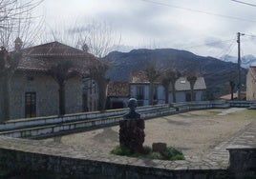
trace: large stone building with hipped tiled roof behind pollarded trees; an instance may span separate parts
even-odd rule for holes
[[[52,42],[22,50],[22,58],[10,81],[11,119],[59,114],[59,86],[49,73],[53,61],[60,64],[72,61],[77,65],[73,69],[79,69],[65,80],[65,113],[94,109],[85,100],[88,96],[83,78],[88,78],[86,66],[96,58],[86,50]],[[96,98],[96,94],[93,96]]]

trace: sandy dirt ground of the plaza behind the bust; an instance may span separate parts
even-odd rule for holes
[[[185,157],[203,156],[222,141],[256,120],[256,110],[207,109],[145,121],[144,146],[164,142],[181,149]],[[64,144],[96,147],[109,152],[118,145],[118,126],[45,139]]]

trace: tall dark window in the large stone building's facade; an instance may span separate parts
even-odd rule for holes
[[[36,117],[36,93],[25,93],[25,117]]]

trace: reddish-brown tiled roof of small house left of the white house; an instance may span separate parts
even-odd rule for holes
[[[109,97],[127,97],[129,96],[129,83],[113,82],[108,84]]]

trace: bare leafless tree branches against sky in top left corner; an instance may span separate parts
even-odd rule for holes
[[[2,0],[0,1],[0,44],[7,50],[13,50],[16,37],[23,40],[23,46],[29,47],[38,40],[42,19],[32,17],[34,10],[42,0]]]

